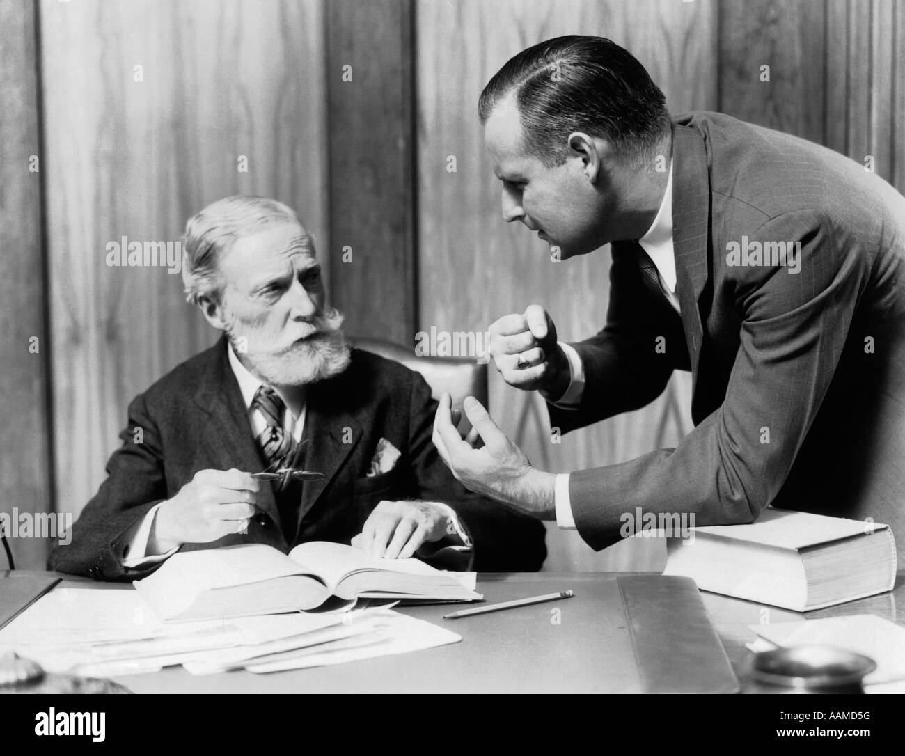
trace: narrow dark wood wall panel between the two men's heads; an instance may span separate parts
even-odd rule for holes
[[[327,8],[333,300],[349,333],[412,343],[415,287],[411,0]]]

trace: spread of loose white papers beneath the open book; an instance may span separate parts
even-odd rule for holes
[[[0,653],[15,651],[47,672],[110,676],[184,665],[210,674],[339,664],[461,639],[386,607],[165,623],[133,590],[57,589],[0,630]]]

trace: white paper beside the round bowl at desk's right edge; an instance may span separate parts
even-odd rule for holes
[[[758,636],[776,646],[819,644],[870,656],[877,668],[864,684],[905,680],[905,627],[870,614],[752,625]]]

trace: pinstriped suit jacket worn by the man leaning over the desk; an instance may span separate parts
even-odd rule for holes
[[[672,127],[681,318],[612,244],[606,325],[575,344],[586,388],[563,432],[643,407],[691,369],[674,449],[573,473],[595,549],[620,514],[751,522],[768,504],[888,522],[905,544],[905,198],[832,150],[719,113]],[[800,241],[800,273],[728,263],[731,242]],[[655,339],[665,337],[665,354]],[[768,434],[768,435],[767,435]]]

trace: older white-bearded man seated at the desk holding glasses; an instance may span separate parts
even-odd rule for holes
[[[138,579],[177,550],[302,541],[457,569],[539,569],[543,526],[452,479],[419,374],[350,349],[309,234],[233,196],[188,221],[183,279],[224,337],[129,406],[108,478],[51,569]],[[304,467],[322,480],[252,473]]]

